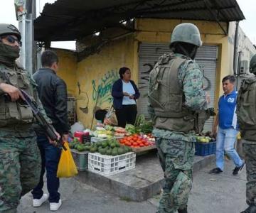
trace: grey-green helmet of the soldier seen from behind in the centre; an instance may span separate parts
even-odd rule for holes
[[[180,23],[171,33],[171,43],[184,42],[200,47],[202,45],[201,35],[193,23]]]

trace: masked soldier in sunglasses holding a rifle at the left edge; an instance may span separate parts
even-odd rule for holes
[[[32,129],[33,113],[19,89],[36,94],[31,76],[16,64],[21,34],[0,23],[0,212],[16,212],[21,196],[38,183],[41,157]],[[38,103],[42,114],[46,113]]]

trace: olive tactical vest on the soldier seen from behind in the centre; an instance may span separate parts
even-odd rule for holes
[[[155,127],[187,133],[195,125],[193,111],[184,107],[185,97],[178,84],[178,68],[188,58],[167,55],[167,60],[159,60],[150,72],[149,104],[156,115]]]

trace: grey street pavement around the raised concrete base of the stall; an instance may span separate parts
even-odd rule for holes
[[[245,168],[238,176],[232,175],[233,163],[225,161],[225,170],[220,175],[210,175],[208,170],[215,165],[194,174],[193,190],[188,201],[189,213],[240,213],[247,207],[245,203]],[[104,184],[102,182],[102,184]],[[46,192],[46,190],[45,190]],[[144,202],[131,202],[89,185],[72,179],[60,182],[60,193],[63,205],[60,213],[154,213],[159,202],[159,195]],[[39,208],[32,207],[32,197],[28,193],[21,199],[18,213],[50,212],[48,202]]]

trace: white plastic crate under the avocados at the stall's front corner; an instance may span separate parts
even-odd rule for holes
[[[135,168],[136,154],[133,152],[110,156],[89,153],[88,170],[100,175],[114,175]]]

